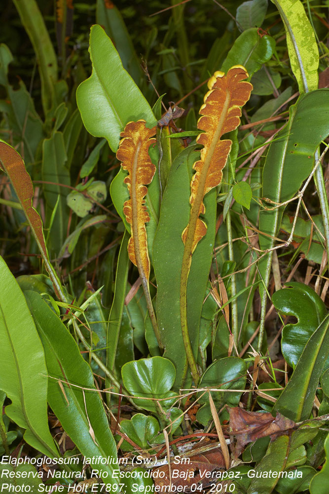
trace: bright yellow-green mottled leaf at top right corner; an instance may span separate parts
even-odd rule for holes
[[[299,0],[272,0],[280,12],[286,35],[292,72],[299,92],[318,87],[319,50],[312,25]]]

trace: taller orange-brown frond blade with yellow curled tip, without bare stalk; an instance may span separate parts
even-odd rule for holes
[[[198,120],[198,128],[205,132],[199,134],[196,139],[198,144],[203,145],[203,149],[200,160],[193,165],[195,174],[191,180],[191,215],[182,235],[184,244],[188,235],[191,253],[207,231],[206,224],[199,218],[199,215],[205,212],[203,198],[221,182],[222,169],[231,150],[232,141],[220,138],[240,124],[240,107],[249,100],[253,89],[250,82],[243,81],[247,77],[246,69],[241,65],[235,65],[229,69],[226,76],[218,71],[208,81],[209,91],[200,108],[199,113],[202,117]]]

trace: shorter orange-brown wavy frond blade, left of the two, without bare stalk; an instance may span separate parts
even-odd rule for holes
[[[148,280],[150,267],[145,223],[149,221],[149,215],[144,197],[147,193],[146,185],[151,183],[156,169],[148,154],[148,148],[156,139],[153,138],[155,127],[148,129],[145,124],[145,120],[139,120],[125,126],[120,134],[123,139],[116,157],[129,173],[124,182],[128,186],[130,199],[123,205],[123,212],[131,225],[129,258],[138,267],[141,277]]]

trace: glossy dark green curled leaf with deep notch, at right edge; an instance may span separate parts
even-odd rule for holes
[[[307,341],[327,315],[319,295],[302,283],[291,282],[272,296],[277,311],[295,316],[297,323],[287,324],[282,330],[282,355],[290,366],[295,366]]]

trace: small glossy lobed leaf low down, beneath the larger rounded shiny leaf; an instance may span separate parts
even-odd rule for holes
[[[136,413],[131,420],[122,420],[120,428],[121,432],[127,434],[129,439],[143,450],[149,448],[149,443],[152,442],[152,439],[160,430],[159,422],[156,418],[143,415],[143,413]],[[134,447],[127,441],[123,441],[120,448],[122,451],[134,450]]]

